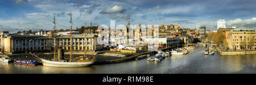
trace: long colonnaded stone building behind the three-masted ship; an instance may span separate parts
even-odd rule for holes
[[[104,45],[98,44],[96,34],[86,34],[84,41],[84,34],[73,34],[73,50],[84,50],[86,45],[87,52],[95,52],[101,50]],[[56,46],[64,50],[70,50],[69,35],[60,35],[56,37]],[[84,43],[86,42],[86,43]],[[1,34],[1,51],[5,53],[22,53],[25,51],[36,50],[53,50],[53,37],[43,35],[17,35],[17,34]]]

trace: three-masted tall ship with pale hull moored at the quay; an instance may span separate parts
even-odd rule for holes
[[[72,42],[72,14],[70,15],[71,17],[71,33],[70,33],[70,40]],[[84,56],[80,56],[80,57],[76,57],[76,59],[72,59],[72,43],[70,45],[70,59],[69,60],[61,60],[61,59],[55,59],[55,53],[56,53],[56,30],[55,30],[55,15],[54,15],[54,20],[53,20],[53,38],[54,38],[54,54],[53,54],[53,60],[51,59],[42,59],[40,58],[40,60],[42,61],[43,66],[52,66],[52,67],[80,67],[80,66],[89,66],[94,64],[94,62],[96,61],[96,58],[89,58],[86,57],[86,52],[85,52],[85,48],[84,48]],[[85,22],[85,32],[84,32],[84,41],[86,40],[86,22]],[[91,42],[90,42],[91,43]],[[89,43],[88,43],[89,44]],[[86,47],[85,44],[84,47]]]

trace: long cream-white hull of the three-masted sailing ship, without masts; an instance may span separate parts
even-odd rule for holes
[[[95,61],[88,62],[61,62],[61,61],[48,61],[42,59],[43,66],[52,66],[52,67],[81,67],[89,66],[94,64]]]

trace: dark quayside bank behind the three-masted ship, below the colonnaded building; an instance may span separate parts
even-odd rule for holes
[[[95,64],[109,64],[114,62],[124,62],[129,60],[135,60],[135,57],[145,55],[148,53],[154,53],[151,51],[141,52],[141,53],[115,53],[115,52],[98,52],[92,53],[87,56],[96,56],[96,63]],[[38,53],[36,54],[40,58],[43,59],[53,59],[53,53]],[[40,60],[35,59],[30,53],[18,53],[18,54],[5,54],[0,53],[1,57],[8,57],[12,60],[36,60],[37,62],[41,63]],[[73,54],[72,58],[75,59],[76,57],[84,56],[82,53]],[[69,59],[69,55],[67,53],[64,54],[64,59]]]

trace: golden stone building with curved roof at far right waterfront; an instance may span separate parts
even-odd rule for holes
[[[256,46],[255,29],[241,26],[240,28],[232,29],[228,34],[228,47],[231,50],[250,49],[250,46]],[[245,46],[243,46],[245,45]]]

